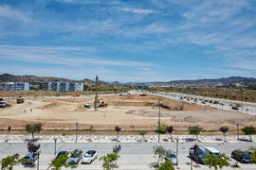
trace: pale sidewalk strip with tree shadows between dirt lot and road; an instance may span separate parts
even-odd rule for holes
[[[57,138],[57,143],[76,143],[76,135],[71,136],[36,136],[35,140],[37,143],[54,143],[54,138]],[[173,135],[174,142],[171,141],[170,135],[161,135],[160,143],[176,143],[178,138],[178,143],[198,143],[194,135]],[[208,143],[208,144],[239,144],[239,143],[251,143],[249,141],[249,136],[241,135],[239,136],[239,141],[237,140],[236,135],[227,136],[226,141],[224,142],[223,136],[198,136],[199,143]],[[27,143],[31,140],[30,135],[0,135],[0,143]],[[90,141],[91,140],[91,141]],[[158,139],[157,135],[146,135],[146,142],[142,142],[142,137],[139,135],[127,135],[119,136],[119,143],[148,143],[148,144],[157,144]],[[252,143],[256,142],[256,136],[252,136]],[[89,135],[78,135],[77,143],[117,143],[117,136],[89,136]]]

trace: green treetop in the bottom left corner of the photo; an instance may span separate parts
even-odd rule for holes
[[[1,161],[1,170],[12,170],[14,165],[20,164],[22,161],[19,159],[19,154],[14,154],[3,158]]]

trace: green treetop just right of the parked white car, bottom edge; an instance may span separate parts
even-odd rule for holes
[[[119,154],[117,152],[109,153],[106,156],[102,156],[100,161],[103,161],[102,168],[104,170],[112,170],[115,168],[119,168],[117,163],[119,159]]]

